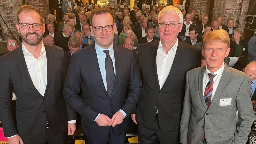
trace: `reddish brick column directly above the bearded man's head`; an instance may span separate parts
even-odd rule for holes
[[[50,14],[49,2],[48,0],[28,0],[29,5],[33,5],[42,12],[43,16]]]

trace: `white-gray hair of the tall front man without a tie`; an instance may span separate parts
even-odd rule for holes
[[[182,12],[180,11],[180,9],[176,8],[175,6],[172,6],[172,5],[168,5],[168,6],[165,6],[158,14],[158,22],[159,22],[159,19],[160,17],[163,15],[163,14],[170,14],[170,13],[175,13],[178,15],[179,17],[179,23],[183,23],[183,15],[182,15]]]

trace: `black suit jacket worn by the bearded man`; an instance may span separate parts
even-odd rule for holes
[[[76,115],[66,110],[63,99],[63,51],[44,45],[47,56],[47,86],[42,96],[35,88],[27,69],[22,47],[0,57],[0,117],[5,137],[42,138],[46,120],[54,134],[67,128]],[[12,91],[17,96],[17,130],[11,113]],[[67,107],[69,107],[67,105]],[[75,112],[75,111],[73,111]]]

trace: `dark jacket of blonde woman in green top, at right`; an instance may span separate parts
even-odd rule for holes
[[[247,42],[245,40],[240,40],[241,42],[241,47],[242,47],[242,55],[239,55],[239,56],[244,56],[244,57],[247,57],[248,55],[248,48],[247,48]],[[236,48],[235,48],[235,43],[236,42],[233,42],[232,40],[230,40],[230,52],[229,52],[229,56],[237,56],[235,55],[235,51],[236,51]]]

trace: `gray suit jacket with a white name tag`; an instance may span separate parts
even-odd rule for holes
[[[211,144],[246,143],[254,121],[249,76],[225,64],[219,86],[207,109],[202,90],[205,69],[199,67],[187,72],[180,142],[199,143],[205,134],[207,143]],[[230,98],[231,105],[220,106],[220,99]]]

